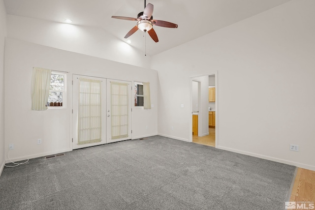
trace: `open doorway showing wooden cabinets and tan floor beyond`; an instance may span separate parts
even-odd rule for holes
[[[218,145],[217,74],[191,78],[191,113],[193,143]],[[196,129],[197,128],[197,129]],[[196,132],[197,130],[197,132]]]

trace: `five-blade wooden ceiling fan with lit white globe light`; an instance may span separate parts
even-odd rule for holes
[[[131,36],[134,32],[136,32],[138,29],[142,30],[144,32],[148,31],[151,38],[158,42],[158,35],[156,31],[153,29],[153,25],[160,26],[160,27],[166,27],[166,28],[177,28],[178,25],[174,23],[170,23],[167,21],[160,21],[160,20],[153,20],[153,4],[148,3],[146,6],[146,0],[144,0],[144,11],[140,12],[137,15],[137,18],[129,18],[129,17],[122,17],[122,16],[112,16],[112,18],[122,19],[122,20],[129,20],[129,21],[137,21],[137,25],[133,27],[125,36],[125,38],[128,38]]]

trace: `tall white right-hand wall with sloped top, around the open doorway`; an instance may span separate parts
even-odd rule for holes
[[[314,20],[292,0],[154,56],[158,133],[189,139],[189,77],[218,71],[218,148],[315,170]]]

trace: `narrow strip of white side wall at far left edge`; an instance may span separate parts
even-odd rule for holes
[[[0,175],[4,167],[4,39],[6,37],[6,11],[0,0]]]

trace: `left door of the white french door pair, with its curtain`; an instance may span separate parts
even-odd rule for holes
[[[72,149],[106,143],[106,79],[72,77]]]

